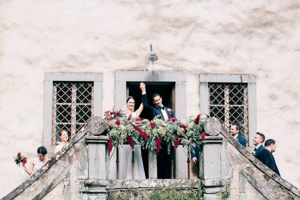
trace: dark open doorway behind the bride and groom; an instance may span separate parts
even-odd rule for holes
[[[126,82],[126,96],[133,96],[135,99],[135,106],[134,110],[136,110],[140,103],[141,103],[141,91],[139,88],[139,83],[140,82]],[[153,93],[159,93],[159,95],[162,98],[162,104],[167,107],[171,107],[173,109],[173,112],[175,114],[175,82],[144,82],[146,85],[146,94],[147,94],[147,99],[148,103],[151,106],[154,106],[152,103],[152,94]],[[146,118],[151,120],[152,113],[151,111],[147,109],[143,109],[140,116],[141,118]],[[148,150],[146,149],[141,149],[141,156],[142,156],[142,161],[143,161],[143,166],[145,170],[145,175],[146,178],[149,177],[148,173]]]

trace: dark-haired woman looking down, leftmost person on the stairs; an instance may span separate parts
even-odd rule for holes
[[[37,157],[30,160],[29,168],[23,163],[23,167],[28,175],[31,175],[35,171],[44,165],[49,159],[47,158],[47,149],[44,146],[39,146],[37,148]]]

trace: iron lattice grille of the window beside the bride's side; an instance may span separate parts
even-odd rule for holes
[[[93,116],[93,93],[93,82],[53,82],[52,145],[61,129],[72,139]]]

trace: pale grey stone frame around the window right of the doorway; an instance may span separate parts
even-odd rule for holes
[[[247,83],[248,88],[248,141],[256,134],[256,81],[255,75],[199,74],[200,112],[208,113],[208,83]],[[250,147],[254,145],[248,142]]]

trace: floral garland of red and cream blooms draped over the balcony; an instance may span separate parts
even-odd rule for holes
[[[169,118],[168,121],[154,117],[151,121],[139,117],[127,117],[123,110],[108,110],[104,112],[105,130],[109,136],[108,151],[112,146],[128,143],[133,150],[135,144],[142,148],[156,150],[158,154],[161,142],[167,146],[168,153],[173,146],[176,150],[179,144],[193,149],[202,144],[207,135],[203,125],[206,117],[198,114],[183,120]],[[189,152],[189,150],[188,150]]]

